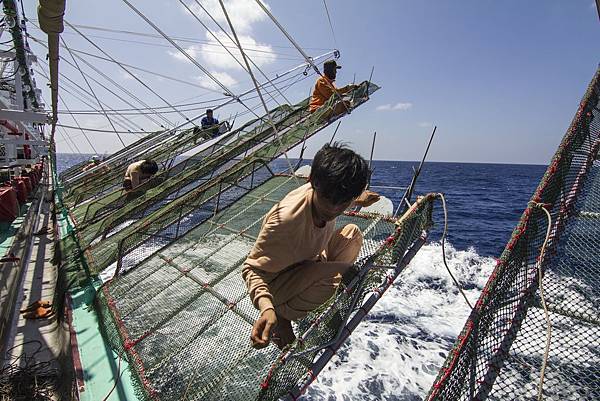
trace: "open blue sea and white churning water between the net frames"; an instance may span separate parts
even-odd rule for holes
[[[62,170],[86,156],[61,154]],[[283,160],[274,162],[285,168]],[[374,161],[374,190],[398,204],[416,162]],[[442,192],[448,206],[447,261],[475,301],[545,166],[426,163],[417,194]],[[442,263],[441,208],[430,242],[339,350],[304,400],[421,400],[468,316]]]

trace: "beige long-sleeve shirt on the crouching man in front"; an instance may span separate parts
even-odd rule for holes
[[[261,312],[273,307],[269,283],[292,265],[316,260],[333,235],[335,221],[322,228],[315,225],[312,195],[313,189],[307,183],[273,206],[244,262],[242,277],[254,306]]]

